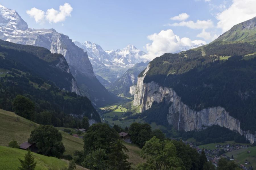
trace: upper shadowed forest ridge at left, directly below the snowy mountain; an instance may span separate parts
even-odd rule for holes
[[[0,40],[0,52],[2,56],[0,57],[0,68],[29,72],[45,80],[51,80],[60,89],[71,90],[74,77],[71,73],[63,71],[69,66],[61,54],[51,54],[49,50],[42,47],[20,45],[2,40]],[[60,60],[64,61],[61,66],[64,68],[56,66]]]

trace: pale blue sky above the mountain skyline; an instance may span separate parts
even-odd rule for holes
[[[247,3],[249,4],[252,2],[252,0],[245,1],[248,1]],[[163,48],[162,51],[170,48],[172,35],[177,35],[180,39],[186,37],[191,41],[202,40],[208,43],[212,41],[212,38],[231,27],[230,25],[237,24],[241,20],[250,19],[249,17],[251,16],[256,16],[255,10],[250,14],[244,14],[246,17],[242,16],[239,21],[237,17],[230,16],[232,11],[226,12],[227,14],[222,16],[222,13],[230,10],[230,8],[235,10],[239,8],[239,4],[236,5],[236,3],[241,2],[241,0],[2,0],[1,4],[16,10],[31,28],[54,28],[73,40],[80,42],[91,41],[100,44],[104,50],[124,48],[127,44],[132,44],[141,50],[146,52],[151,50],[152,53],[156,54],[158,52],[153,49],[158,47],[153,46],[154,41],[158,45],[164,44],[165,41],[169,42],[169,46]],[[51,8],[58,11],[60,5],[64,5],[64,3],[68,3],[73,8],[72,12],[70,12],[71,16],[66,16],[65,20],[56,23],[49,23],[47,20],[43,24],[36,22],[26,12],[31,8],[37,8],[44,12]],[[186,13],[189,18],[184,21],[170,20],[170,18],[181,13]],[[243,13],[246,12],[242,12],[242,15]],[[230,17],[228,18],[230,22],[232,21],[229,25],[224,24],[227,17]],[[205,21],[206,23],[200,24],[197,23],[197,20],[199,22]],[[180,24],[181,22],[183,24]],[[177,23],[176,26],[173,25],[174,23]],[[207,26],[209,23],[210,25]],[[165,40],[161,42],[158,33],[168,29],[172,31],[162,32],[163,34],[160,37],[164,36]],[[156,36],[152,35],[154,33],[156,33]],[[199,36],[200,33],[202,33],[201,36]],[[148,38],[148,35],[152,35],[151,39]],[[167,38],[165,37],[166,35]],[[148,48],[146,44],[148,44]],[[181,46],[180,44],[176,45]],[[169,52],[172,52],[172,50]]]

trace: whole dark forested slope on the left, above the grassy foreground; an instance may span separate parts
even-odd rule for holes
[[[17,95],[23,95],[34,103],[35,116],[30,119],[38,123],[41,123],[40,118],[43,114],[50,117],[49,124],[53,126],[79,127],[80,118],[83,116],[100,122],[98,113],[87,97],[61,90],[69,89],[72,85],[70,80],[73,78],[70,73],[54,66],[54,62],[63,56],[47,54],[48,50],[41,47],[10,44],[24,48],[20,51],[12,49],[13,46],[10,48],[0,46],[0,68],[9,70],[8,74],[5,73],[6,75],[0,78],[1,109],[14,111],[13,100]],[[28,50],[28,52],[23,50]],[[30,53],[30,50],[41,57]],[[44,54],[53,56],[53,58],[44,57]],[[57,60],[53,61],[54,56]],[[48,84],[48,88],[42,87],[43,84]]]

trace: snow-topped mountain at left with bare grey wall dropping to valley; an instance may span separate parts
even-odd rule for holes
[[[31,29],[15,10],[0,5],[0,39],[18,44],[45,47],[52,53],[62,54],[82,95],[95,105],[110,104],[113,95],[102,86],[94,75],[86,52],[76,46],[67,35],[54,29]]]

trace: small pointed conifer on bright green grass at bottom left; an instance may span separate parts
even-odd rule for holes
[[[24,156],[24,160],[20,160],[20,167],[18,167],[19,170],[34,170],[36,167],[36,162],[34,161],[34,155],[32,152],[28,149],[28,152]]]

